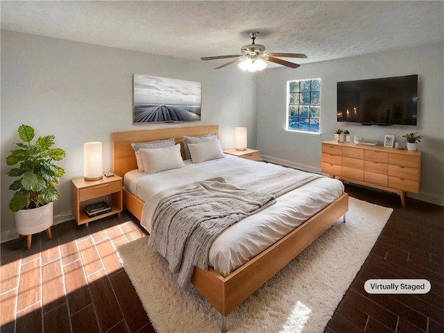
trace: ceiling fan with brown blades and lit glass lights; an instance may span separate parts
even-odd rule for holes
[[[255,39],[259,35],[258,32],[249,33],[253,42],[251,44],[242,46],[241,54],[233,54],[230,56],[214,56],[214,57],[202,57],[201,60],[216,60],[216,59],[225,59],[225,58],[237,58],[230,62],[227,62],[215,69],[220,69],[225,66],[234,64],[238,62],[239,67],[244,71],[262,71],[266,67],[266,63],[263,60],[267,60],[270,62],[275,62],[279,65],[284,65],[290,68],[298,68],[300,65],[295,64],[294,62],[289,62],[287,60],[282,60],[275,57],[283,57],[283,58],[307,58],[305,54],[302,53],[265,53],[265,46],[261,44],[255,44]]]

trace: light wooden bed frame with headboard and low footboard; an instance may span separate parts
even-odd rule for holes
[[[113,171],[118,176],[123,177],[126,172],[137,169],[135,153],[130,145],[133,142],[151,142],[175,137],[176,143],[181,144],[182,156],[185,156],[182,144],[183,135],[196,136],[211,133],[216,133],[219,137],[219,126],[163,128],[113,133]],[[143,205],[142,200],[130,194],[123,187],[123,207],[139,220],[142,219]],[[223,332],[226,329],[226,316],[230,312],[291,262],[294,257],[330,228],[341,216],[343,216],[345,222],[345,212],[347,211],[348,194],[345,193],[273,246],[237,268],[226,278],[223,278],[212,268],[207,271],[195,268],[191,284],[222,314]]]

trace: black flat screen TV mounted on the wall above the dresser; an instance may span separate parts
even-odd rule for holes
[[[418,75],[338,82],[338,121],[413,125],[418,117]]]

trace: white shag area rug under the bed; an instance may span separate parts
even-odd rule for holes
[[[349,198],[342,218],[227,317],[228,332],[323,332],[393,210]],[[158,333],[221,332],[221,314],[180,289],[148,237],[117,248]]]

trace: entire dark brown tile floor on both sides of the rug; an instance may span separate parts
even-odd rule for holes
[[[325,332],[444,332],[444,207],[346,185],[355,198],[393,207],[391,218]],[[135,221],[133,223],[131,220]],[[371,221],[369,221],[370,223]],[[154,332],[120,266],[119,244],[144,237],[123,212],[78,227],[53,227],[1,244],[1,332]],[[370,278],[425,278],[425,295],[369,295]]]

